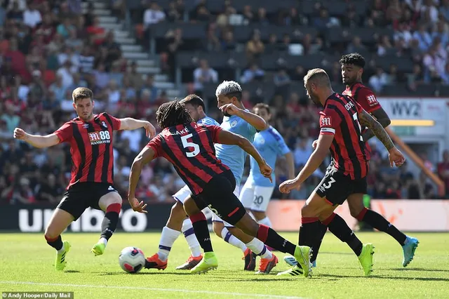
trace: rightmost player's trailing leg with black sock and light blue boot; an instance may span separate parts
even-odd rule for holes
[[[368,223],[371,227],[381,232],[386,232],[393,237],[402,246],[403,250],[403,267],[406,267],[413,260],[415,250],[420,243],[416,238],[408,237],[406,234],[398,230],[394,225],[388,222],[379,213],[363,206],[363,194],[351,194],[347,199],[349,211],[352,217],[358,221]]]

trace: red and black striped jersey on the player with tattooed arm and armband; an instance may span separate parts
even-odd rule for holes
[[[320,134],[334,135],[330,145],[333,165],[353,180],[367,175],[370,159],[358,121],[362,109],[353,98],[333,93],[320,112]]]

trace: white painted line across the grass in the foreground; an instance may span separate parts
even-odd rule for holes
[[[210,295],[232,295],[245,296],[246,298],[285,298],[285,299],[305,299],[295,296],[283,295],[267,295],[267,294],[248,294],[248,293],[230,293],[230,292],[216,292],[216,291],[200,291],[200,290],[186,290],[180,288],[145,288],[143,286],[100,286],[95,284],[50,284],[46,282],[34,281],[0,281],[0,284],[27,284],[34,286],[68,286],[74,288],[116,288],[119,290],[145,290],[145,291],[161,291],[161,292],[176,292],[176,293],[198,293]]]

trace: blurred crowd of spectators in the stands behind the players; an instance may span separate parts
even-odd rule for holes
[[[116,1],[112,1],[116,2]],[[123,3],[124,2],[124,3]],[[126,6],[126,1],[121,5]],[[297,66],[295,72],[288,73],[283,67],[278,72],[268,74],[257,66],[257,56],[272,49],[286,49],[288,36],[270,37],[264,44],[255,32],[246,45],[233,41],[232,31],[227,30],[235,15],[230,1],[222,13],[211,14],[205,1],[197,1],[198,6],[184,18],[183,1],[171,1],[166,11],[156,3],[149,4],[142,15],[144,27],[157,22],[208,22],[208,28],[221,28],[220,34],[209,30],[203,45],[213,51],[225,51],[243,46],[252,62],[241,77],[226,77],[201,62],[192,74],[192,84],[187,93],[201,93],[206,83],[219,83],[222,79],[236,79],[243,83],[270,78],[276,85],[276,93],[269,103],[273,107],[272,125],[286,139],[294,153],[297,171],[311,154],[311,142],[318,135],[319,109],[314,107],[303,94],[290,92],[291,81],[301,81],[307,69]],[[229,3],[228,3],[229,2]],[[98,18],[89,10],[81,12],[81,1],[2,1],[0,8],[0,202],[31,204],[60,201],[69,180],[71,157],[66,145],[58,145],[48,150],[32,149],[24,142],[12,139],[13,129],[20,126],[29,133],[53,133],[65,121],[75,117],[71,93],[75,87],[91,88],[95,95],[97,112],[107,110],[116,117],[137,117],[154,121],[155,109],[169,99],[164,91],[154,86],[154,78],[142,76],[136,71],[137,65],[122,57],[119,44],[114,41],[113,32],[100,27]],[[120,6],[121,7],[121,6]],[[277,25],[313,25],[320,30],[344,25],[390,26],[394,28],[394,39],[380,36],[374,46],[365,46],[354,38],[342,48],[328,48],[321,36],[300,43],[304,53],[337,51],[339,55],[349,51],[369,52],[374,55],[401,53],[411,55],[415,63],[413,73],[402,74],[391,67],[388,72],[367,67],[364,79],[374,91],[382,93],[385,84],[402,82],[413,90],[417,84],[441,82],[449,84],[449,64],[447,50],[449,35],[449,0],[390,0],[373,1],[366,12],[366,18],[349,11],[347,18],[334,18],[326,8],[317,4],[318,14],[311,17],[302,15],[297,8],[289,8],[276,15],[267,15],[264,8],[253,11],[244,8],[243,22],[246,24],[276,23]],[[153,12],[153,13],[152,13]],[[154,13],[156,12],[156,13]],[[168,36],[166,48],[161,53],[162,69],[170,73],[175,69],[174,56],[182,51],[182,35]],[[302,48],[301,48],[302,47]],[[330,77],[340,84],[340,65],[333,62]],[[340,91],[340,90],[338,90]],[[260,100],[260,95],[244,92],[244,105],[250,109]],[[220,114],[209,102],[210,116],[220,121]],[[130,165],[140,149],[147,143],[144,131],[118,132],[114,136],[114,179],[116,188],[126,194]],[[385,199],[431,199],[436,197],[436,188],[424,174],[415,176],[401,168],[390,168],[386,152],[381,150],[376,140],[372,142],[372,161],[369,174],[371,197]],[[427,161],[427,166],[448,181],[449,155],[445,154],[443,164]],[[321,180],[326,168],[323,164],[304,184],[301,190],[292,192],[290,199],[304,199]],[[448,166],[446,166],[448,165]],[[286,179],[286,167],[282,159],[276,166],[276,181]],[[157,159],[142,171],[138,197],[149,202],[171,201],[171,194],[182,187],[173,167],[164,159]],[[449,185],[448,185],[449,187]],[[446,189],[448,189],[446,187]],[[275,192],[274,198],[286,198],[286,194]]]

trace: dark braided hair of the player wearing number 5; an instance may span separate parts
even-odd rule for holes
[[[156,111],[157,124],[162,128],[190,124],[194,120],[185,107],[177,100],[163,103]]]

